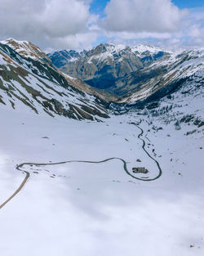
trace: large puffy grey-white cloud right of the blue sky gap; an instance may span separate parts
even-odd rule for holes
[[[108,31],[166,33],[180,29],[187,11],[171,0],[111,0],[105,13],[101,25]]]

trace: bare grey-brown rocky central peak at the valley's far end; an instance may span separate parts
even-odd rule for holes
[[[76,61],[62,66],[65,74],[82,79],[92,87],[107,89],[114,86],[119,77],[143,67],[130,47],[100,44],[84,52]]]

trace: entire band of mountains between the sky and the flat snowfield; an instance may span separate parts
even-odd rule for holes
[[[45,54],[26,41],[0,43],[0,104],[72,119],[100,120],[117,110],[203,86],[204,49],[171,52],[100,44],[90,51]]]

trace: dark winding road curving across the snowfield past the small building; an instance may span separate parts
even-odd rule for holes
[[[141,123],[141,120],[140,120],[140,123]],[[138,135],[138,138],[143,141],[143,150],[144,152],[149,156],[149,158],[153,159],[153,161],[157,164],[157,168],[158,168],[158,174],[156,177],[153,177],[153,178],[145,178],[145,177],[135,177],[135,175],[133,175],[130,171],[128,171],[127,169],[127,162],[122,159],[122,158],[118,158],[118,157],[111,157],[111,158],[108,158],[108,159],[104,159],[104,160],[101,160],[101,161],[86,161],[86,160],[68,160],[68,161],[63,161],[63,162],[57,162],[57,163],[49,163],[49,164],[39,164],[39,163],[23,163],[23,164],[19,164],[16,166],[16,169],[23,172],[23,173],[26,173],[26,176],[24,177],[24,180],[23,182],[20,184],[19,188],[5,201],[3,202],[2,204],[0,204],[0,209],[2,209],[2,207],[4,207],[11,199],[13,199],[19,192],[20,190],[24,187],[24,184],[25,182],[28,181],[29,179],[29,172],[27,171],[24,171],[22,168],[24,167],[24,165],[35,165],[35,166],[47,166],[47,165],[57,165],[57,164],[68,164],[68,163],[84,163],[84,164],[101,164],[101,163],[104,163],[104,162],[108,162],[108,161],[111,161],[113,159],[118,159],[122,162],[123,164],[123,168],[124,168],[124,171],[126,172],[127,175],[135,178],[136,180],[139,180],[139,181],[143,181],[143,182],[152,182],[152,181],[155,181],[157,180],[157,178],[161,177],[162,175],[162,168],[160,167],[159,163],[157,162],[156,159],[154,159],[151,155],[149,155],[149,152],[147,150],[145,150],[145,141],[141,138],[141,136],[144,134],[144,131],[142,128],[140,128],[139,124],[135,124],[135,123],[129,123],[129,124],[134,124],[137,128],[140,129],[140,134]]]

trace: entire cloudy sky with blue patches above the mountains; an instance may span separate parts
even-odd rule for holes
[[[204,47],[203,0],[1,0],[0,40],[49,52],[99,43]]]

